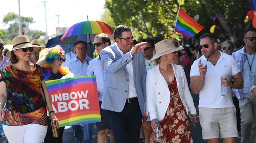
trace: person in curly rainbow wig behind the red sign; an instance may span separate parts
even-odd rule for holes
[[[56,45],[53,48],[45,48],[41,50],[39,54],[38,65],[42,66],[45,80],[63,79],[73,77],[73,73],[67,68],[63,67],[62,64],[65,62],[65,52],[61,46]],[[60,127],[60,136],[53,137],[51,129],[47,130],[44,142],[63,142],[64,127]]]

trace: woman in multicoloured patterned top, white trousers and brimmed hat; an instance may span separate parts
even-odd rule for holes
[[[7,53],[12,64],[0,74],[0,120],[9,143],[39,143],[47,131],[43,91],[50,117],[56,118],[42,69],[29,63],[31,52],[39,47],[32,45],[27,36],[15,37],[12,44],[12,50]],[[55,127],[59,128],[58,122]]]

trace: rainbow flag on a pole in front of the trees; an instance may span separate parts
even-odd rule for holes
[[[186,37],[193,37],[199,33],[204,26],[198,24],[180,7],[175,20],[175,32],[181,33]]]

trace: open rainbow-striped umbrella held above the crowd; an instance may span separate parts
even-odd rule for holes
[[[60,40],[75,43],[79,36],[89,34],[89,36],[86,36],[89,38],[86,38],[84,41],[91,42],[92,38],[90,34],[98,33],[106,33],[111,36],[110,38],[112,38],[111,34],[113,34],[113,30],[108,24],[101,21],[83,21],[68,28]]]

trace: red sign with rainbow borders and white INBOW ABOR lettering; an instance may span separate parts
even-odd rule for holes
[[[46,87],[60,127],[101,121],[94,75],[48,80]]]

